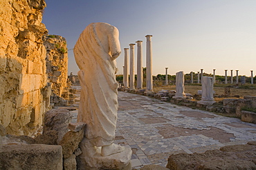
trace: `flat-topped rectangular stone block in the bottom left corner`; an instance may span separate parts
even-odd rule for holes
[[[0,169],[62,169],[59,145],[0,145]]]

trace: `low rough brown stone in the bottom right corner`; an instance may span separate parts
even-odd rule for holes
[[[256,169],[253,145],[232,145],[205,153],[179,153],[168,158],[168,169]]]

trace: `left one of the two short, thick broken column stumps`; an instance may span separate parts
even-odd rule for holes
[[[184,93],[184,73],[176,72],[176,94],[173,98],[185,98]]]

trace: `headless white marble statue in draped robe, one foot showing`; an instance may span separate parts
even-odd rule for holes
[[[116,58],[120,55],[118,29],[108,23],[88,25],[74,47],[82,87],[78,122],[86,123],[85,136],[101,155],[119,153],[125,148],[113,144],[118,113]]]

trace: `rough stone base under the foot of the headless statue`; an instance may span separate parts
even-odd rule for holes
[[[92,147],[89,140],[84,138],[80,143],[82,154],[77,158],[77,168],[85,169],[131,169],[131,149],[114,153],[110,156],[101,155],[101,147]]]

